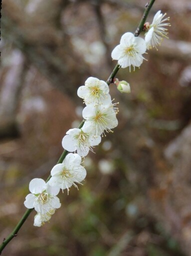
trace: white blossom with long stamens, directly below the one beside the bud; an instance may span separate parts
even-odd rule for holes
[[[116,104],[109,105],[87,105],[84,107],[82,115],[86,119],[84,127],[90,128],[91,133],[95,135],[105,134],[104,131],[112,131],[118,125],[118,120],[116,118],[116,113],[118,112],[118,107]]]

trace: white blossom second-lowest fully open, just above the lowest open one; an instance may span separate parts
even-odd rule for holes
[[[49,184],[58,186],[62,191],[67,189],[68,192],[72,185],[78,188],[77,184],[81,184],[86,176],[86,169],[80,163],[81,156],[79,154],[67,154],[62,163],[58,163],[52,168]]]

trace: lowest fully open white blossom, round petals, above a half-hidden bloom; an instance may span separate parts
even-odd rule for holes
[[[49,182],[41,178],[33,178],[29,183],[29,193],[24,201],[26,208],[34,208],[37,212],[46,214],[53,209],[59,208],[61,203],[56,196],[59,193],[59,187],[52,187]]]

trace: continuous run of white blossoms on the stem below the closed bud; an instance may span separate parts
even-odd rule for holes
[[[79,87],[77,94],[86,104],[82,113],[84,125],[69,129],[63,137],[62,146],[70,153],[62,163],[52,168],[48,182],[34,178],[29,183],[31,193],[26,196],[24,205],[36,210],[35,226],[48,221],[55,209],[61,206],[56,196],[60,189],[69,192],[72,185],[78,188],[78,184],[86,177],[86,169],[81,165],[82,157],[101,142],[101,135],[118,125],[118,108],[112,103],[109,86],[105,81],[89,77],[85,85]]]

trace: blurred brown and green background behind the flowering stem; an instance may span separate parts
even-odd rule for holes
[[[82,120],[77,88],[107,80],[112,49],[134,32],[147,0],[3,0],[0,62],[0,240],[25,211],[34,177],[46,179],[61,139]],[[119,125],[84,159],[79,191],[60,193],[50,223],[30,214],[2,255],[191,255],[191,1],[156,0],[169,38],[140,69],[120,69],[131,94]],[[143,36],[141,34],[141,36]]]

